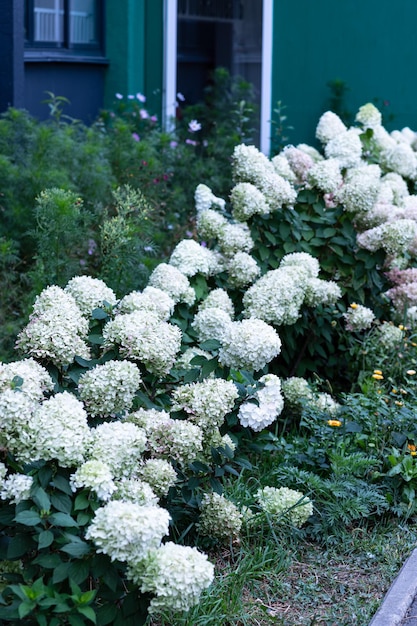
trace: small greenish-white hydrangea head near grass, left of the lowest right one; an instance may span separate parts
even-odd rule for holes
[[[197,530],[206,537],[228,541],[239,536],[242,514],[233,502],[218,493],[205,493]]]

